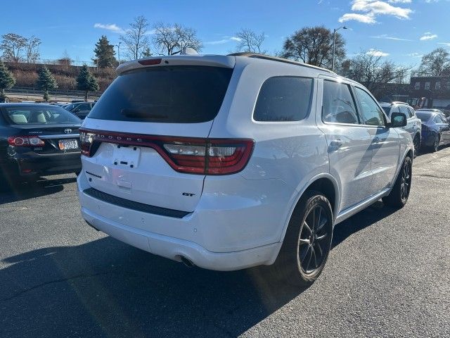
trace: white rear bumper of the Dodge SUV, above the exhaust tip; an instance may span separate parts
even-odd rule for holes
[[[273,201],[252,205],[240,198],[238,206],[232,208],[217,196],[203,196],[194,212],[175,218],[97,199],[86,193],[90,186],[84,173],[77,182],[82,216],[89,225],[158,256],[174,261],[186,257],[200,268],[226,271],[270,265],[281,248],[281,206]],[[281,185],[276,180],[259,182],[263,188],[264,184]],[[278,200],[285,205],[285,201]]]

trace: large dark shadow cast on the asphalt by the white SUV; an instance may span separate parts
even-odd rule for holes
[[[341,223],[333,246],[392,212],[375,204]],[[186,268],[111,237],[2,263],[0,337],[236,337],[304,291],[264,269]]]

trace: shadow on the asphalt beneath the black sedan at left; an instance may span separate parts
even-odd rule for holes
[[[58,179],[39,177],[36,182],[24,182],[14,184],[13,186],[6,186],[5,182],[0,182],[0,205],[55,194],[64,189],[64,184],[76,181],[77,177],[64,177]]]

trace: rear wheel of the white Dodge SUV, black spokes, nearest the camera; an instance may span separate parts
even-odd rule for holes
[[[271,273],[283,284],[309,287],[323,271],[332,239],[330,202],[321,192],[305,192],[290,218]]]

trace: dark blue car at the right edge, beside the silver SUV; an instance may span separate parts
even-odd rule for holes
[[[442,144],[450,144],[450,123],[444,113],[433,110],[418,110],[416,115],[422,121],[422,144],[432,151]]]

